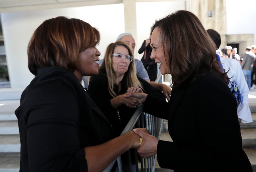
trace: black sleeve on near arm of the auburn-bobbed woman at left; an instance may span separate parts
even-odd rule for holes
[[[26,105],[31,171],[87,171],[79,147],[79,92],[66,79],[43,81],[30,89]]]

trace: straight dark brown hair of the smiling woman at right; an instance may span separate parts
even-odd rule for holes
[[[190,85],[199,75],[211,69],[222,75],[228,82],[228,76],[216,60],[213,41],[199,19],[191,12],[180,10],[156,21],[151,28],[160,29],[160,43],[172,75],[173,87]],[[207,69],[205,71],[205,69]]]

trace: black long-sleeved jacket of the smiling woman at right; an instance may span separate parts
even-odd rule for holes
[[[173,89],[170,103],[157,102],[149,95],[144,110],[168,119],[173,142],[158,142],[161,168],[252,172],[242,149],[236,100],[214,71],[199,76],[187,89]]]

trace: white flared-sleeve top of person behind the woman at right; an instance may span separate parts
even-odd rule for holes
[[[228,71],[227,75],[231,81],[235,81],[243,96],[243,102],[237,108],[238,117],[242,123],[252,122],[251,110],[249,108],[249,88],[246,83],[244,73],[242,72],[239,61],[231,58],[220,57],[220,61],[223,65],[223,69]]]

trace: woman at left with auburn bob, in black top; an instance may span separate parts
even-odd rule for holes
[[[34,31],[28,67],[35,78],[15,111],[21,172],[103,171],[139,146],[132,131],[112,139],[110,123],[80,84],[98,74],[99,41],[95,28],[75,18],[48,19]]]

